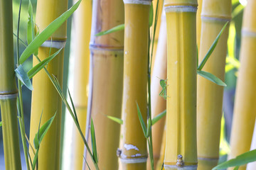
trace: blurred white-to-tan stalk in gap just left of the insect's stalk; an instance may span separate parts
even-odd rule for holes
[[[166,47],[166,16],[163,11],[161,17],[161,27],[159,34],[159,41],[156,51],[156,60],[154,70],[151,78],[151,114],[156,117],[159,113],[166,110],[166,100],[159,96],[162,88],[160,86],[160,79],[166,79],[167,76],[167,47]],[[160,79],[159,79],[160,78]],[[159,122],[152,126],[152,140],[153,140],[153,153],[154,153],[154,166],[158,162],[161,152],[162,136],[164,133],[166,116],[161,118]],[[150,159],[148,159],[147,169],[151,169]]]

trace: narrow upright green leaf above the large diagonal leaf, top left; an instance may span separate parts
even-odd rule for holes
[[[35,33],[33,29],[33,6],[31,0],[28,1],[28,29],[27,29],[27,41],[30,44],[35,38]]]

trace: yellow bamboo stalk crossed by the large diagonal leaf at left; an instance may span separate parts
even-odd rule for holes
[[[68,8],[68,1],[51,1],[38,0],[36,10],[36,25],[39,31],[46,28],[50,22],[60,16]],[[38,57],[44,60],[53,52],[56,52],[58,45],[64,46],[66,40],[66,23],[63,23],[51,37],[43,43],[38,50]],[[56,46],[55,46],[56,45]],[[51,50],[50,50],[51,46]],[[53,74],[62,85],[63,81],[63,55],[64,50],[61,50],[58,56],[48,64],[48,72]],[[33,65],[38,64],[36,59],[33,60]],[[31,103],[31,130],[30,142],[33,144],[33,138],[38,132],[39,120],[41,125],[46,123],[56,112],[55,120],[50,126],[43,142],[40,145],[38,153],[38,168],[39,169],[60,169],[60,123],[61,123],[61,98],[58,96],[53,84],[50,82],[46,72],[41,70],[33,77],[33,92]],[[33,159],[33,152],[30,149],[30,154]]]

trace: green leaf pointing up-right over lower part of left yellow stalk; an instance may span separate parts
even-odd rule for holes
[[[43,137],[46,135],[46,133],[48,132],[50,125],[53,123],[53,120],[55,118],[57,112],[55,112],[55,114],[53,115],[52,118],[50,118],[45,124],[42,125],[42,127],[38,130],[38,132],[36,133],[33,142],[34,142],[34,146],[36,149],[39,148],[39,145],[41,144]]]

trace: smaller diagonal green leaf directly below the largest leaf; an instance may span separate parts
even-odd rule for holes
[[[35,67],[33,67],[31,70],[28,71],[28,77],[29,79],[31,79],[34,75],[36,75],[41,69],[43,69],[43,67],[46,66],[46,64],[48,64],[51,60],[53,60],[54,57],[56,57],[58,55],[58,53],[60,53],[60,51],[62,50],[62,48],[60,48],[60,50],[58,50],[57,52],[55,52],[53,55],[50,55],[49,57],[47,57],[45,60],[43,60],[42,62],[39,62],[38,64],[36,64]]]

